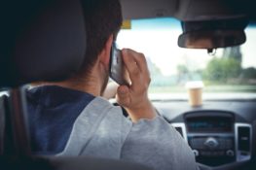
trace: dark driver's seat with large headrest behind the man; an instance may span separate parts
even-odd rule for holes
[[[149,169],[119,160],[31,153],[23,85],[59,81],[81,66],[80,0],[6,0],[0,7],[0,169]]]

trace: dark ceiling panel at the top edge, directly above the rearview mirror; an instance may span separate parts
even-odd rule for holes
[[[174,17],[182,21],[201,21],[246,17],[244,0],[180,0]]]

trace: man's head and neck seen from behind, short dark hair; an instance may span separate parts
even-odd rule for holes
[[[62,82],[33,85],[60,85],[92,94],[102,94],[108,82],[110,51],[123,17],[119,0],[81,0],[87,31],[87,51],[81,69]],[[100,91],[99,91],[100,90]]]

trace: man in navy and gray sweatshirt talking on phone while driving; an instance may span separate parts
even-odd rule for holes
[[[131,120],[100,97],[122,23],[121,6],[118,0],[85,3],[88,48],[82,68],[63,82],[27,92],[32,150],[125,159],[163,170],[196,169],[188,145],[148,98],[150,76],[142,53],[122,51],[131,84],[118,87],[117,100]]]

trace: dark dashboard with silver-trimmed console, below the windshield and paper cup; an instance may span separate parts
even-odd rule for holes
[[[256,101],[205,101],[201,107],[182,100],[155,101],[154,105],[206,167],[234,167],[256,153]]]

